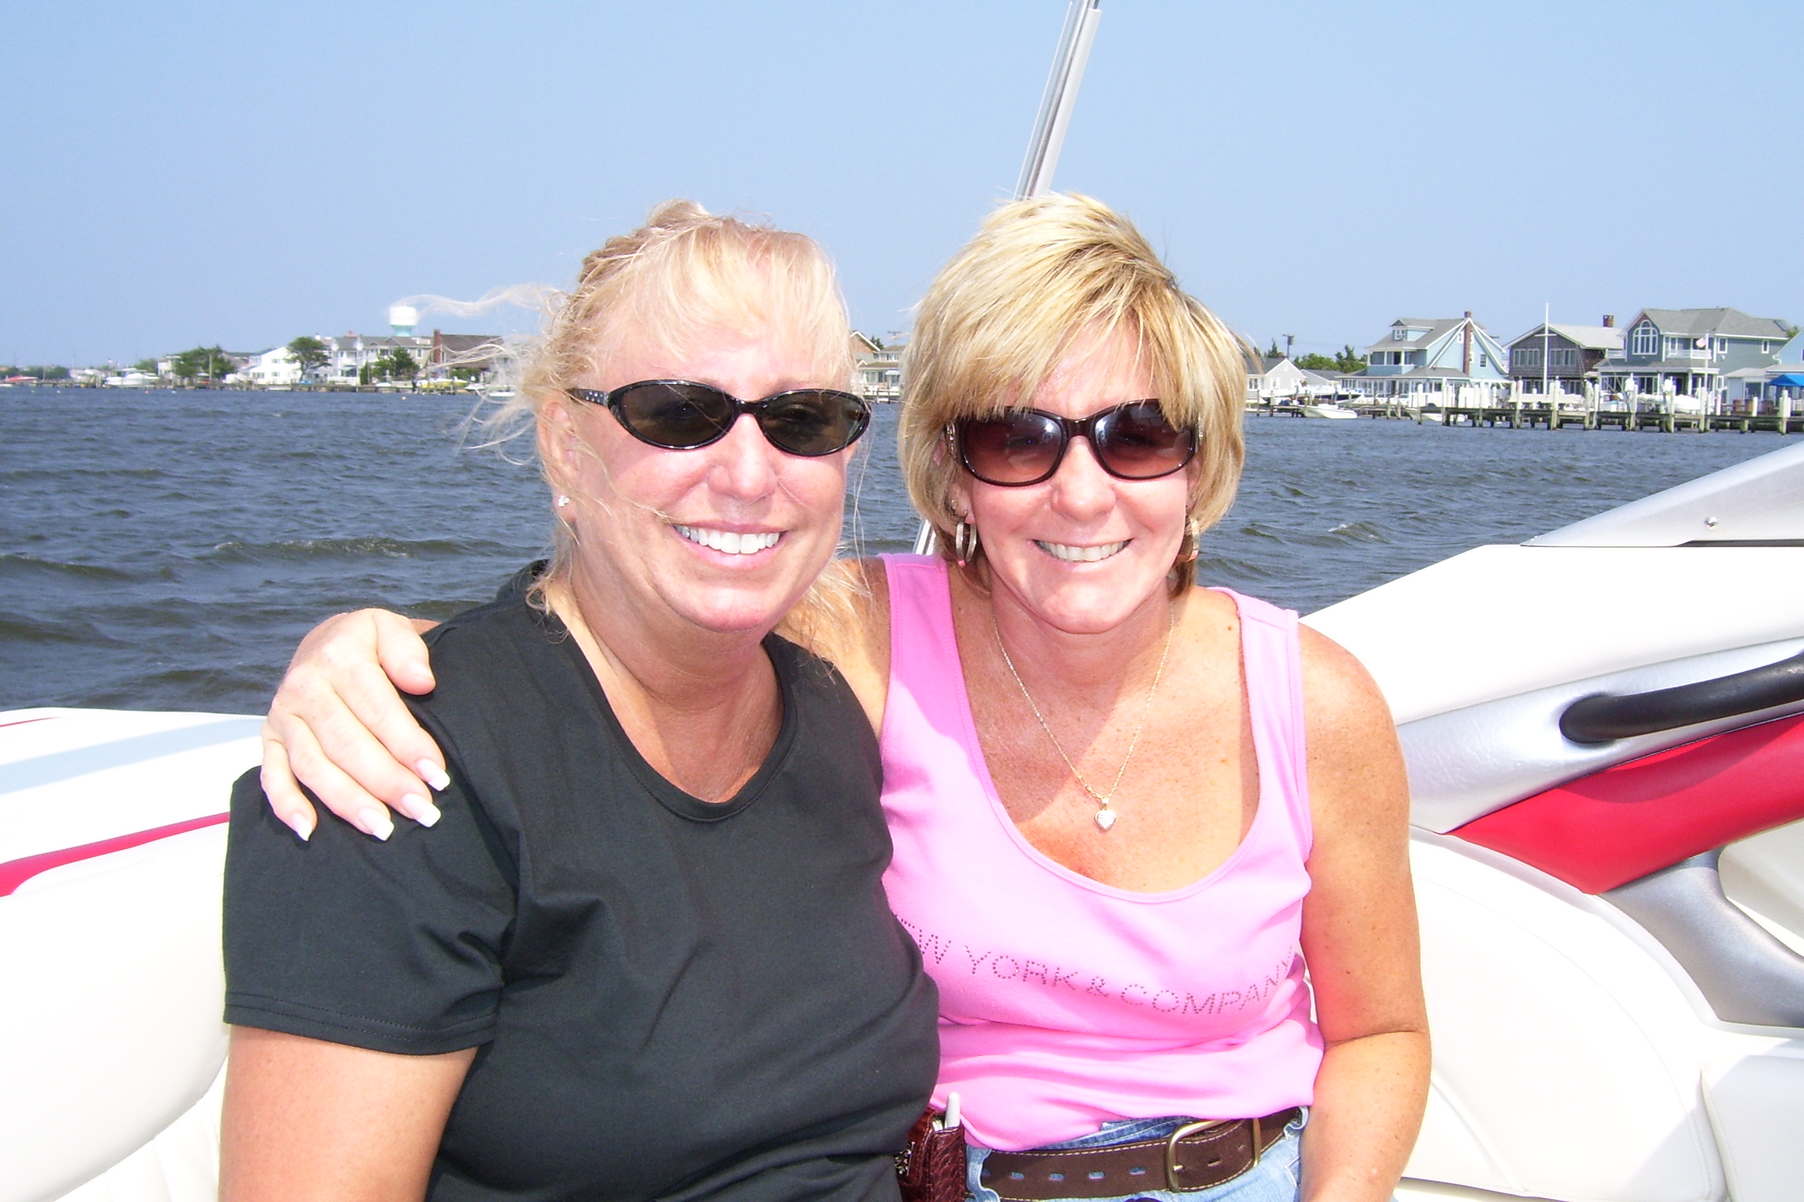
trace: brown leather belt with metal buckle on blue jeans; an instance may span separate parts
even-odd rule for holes
[[[1275,1144],[1297,1108],[1263,1119],[1189,1123],[1167,1139],[1059,1151],[992,1151],[981,1180],[1007,1202],[1118,1198],[1142,1189],[1209,1189],[1234,1180]]]

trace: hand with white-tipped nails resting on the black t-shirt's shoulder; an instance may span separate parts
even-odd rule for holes
[[[388,807],[428,827],[438,821],[428,783],[444,789],[444,753],[397,691],[433,689],[420,633],[435,624],[359,610],[301,639],[263,722],[263,791],[303,839],[318,814],[299,783],[379,839],[393,830]]]

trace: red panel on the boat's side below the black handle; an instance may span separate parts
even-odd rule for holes
[[[1602,893],[1799,818],[1804,717],[1629,760],[1449,834]]]

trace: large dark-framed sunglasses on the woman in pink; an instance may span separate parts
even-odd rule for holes
[[[1173,426],[1158,401],[1129,401],[1090,417],[1045,410],[963,417],[953,433],[965,471],[1005,489],[1050,480],[1079,437],[1090,439],[1102,471],[1118,480],[1158,480],[1196,458],[1196,431]]]

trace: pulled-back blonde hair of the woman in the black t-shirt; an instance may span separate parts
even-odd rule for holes
[[[545,332],[520,366],[514,401],[485,421],[491,440],[541,428],[550,401],[594,386],[619,339],[653,337],[680,348],[707,330],[799,334],[823,379],[851,379],[851,330],[833,264],[806,235],[666,200],[633,233],[608,238],[583,260],[575,289],[554,294]],[[550,457],[539,473],[557,491]],[[575,541],[554,523],[545,583],[570,570]]]

